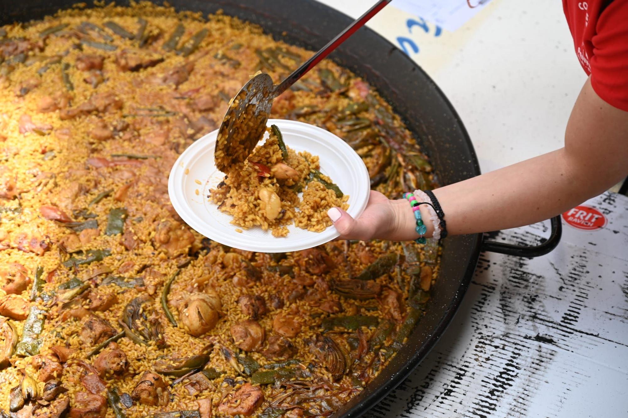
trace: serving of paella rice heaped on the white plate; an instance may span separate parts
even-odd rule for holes
[[[233,164],[210,200],[242,228],[259,226],[274,237],[288,235],[287,225],[322,232],[332,225],[327,210],[347,210],[349,195],[320,173],[318,156],[286,147],[278,127],[243,163]],[[303,191],[300,198],[299,193]]]

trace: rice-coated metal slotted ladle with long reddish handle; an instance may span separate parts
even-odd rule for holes
[[[379,0],[280,84],[274,85],[273,79],[266,73],[251,78],[230,102],[220,125],[214,152],[217,168],[226,173],[233,164],[242,163],[264,136],[274,98],[290,88],[391,1]]]

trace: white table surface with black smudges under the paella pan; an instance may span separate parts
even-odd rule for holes
[[[373,1],[319,0],[357,17]],[[560,1],[491,0],[454,32],[408,31],[394,1],[368,26],[399,46],[452,102],[482,172],[561,147],[586,80]],[[537,259],[482,253],[452,325],[430,355],[367,414],[374,417],[628,417],[628,198],[587,202],[607,225],[563,222]],[[518,244],[543,224],[499,235]]]

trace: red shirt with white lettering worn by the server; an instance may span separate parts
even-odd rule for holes
[[[628,0],[563,0],[563,9],[593,90],[628,111]]]

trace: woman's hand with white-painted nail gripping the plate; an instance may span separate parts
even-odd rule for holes
[[[340,232],[338,239],[404,241],[419,237],[414,231],[416,222],[408,201],[389,200],[379,191],[371,190],[369,203],[357,220],[340,208],[331,208],[327,211],[327,215],[336,230]],[[430,228],[429,225],[428,228]],[[431,236],[431,228],[428,229],[427,236]]]

